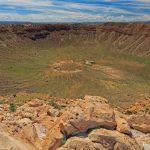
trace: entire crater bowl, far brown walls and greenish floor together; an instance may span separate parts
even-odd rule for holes
[[[150,94],[149,43],[142,23],[1,25],[0,94],[92,94],[126,105]]]

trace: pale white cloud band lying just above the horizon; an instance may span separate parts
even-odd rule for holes
[[[55,13],[52,15],[40,15],[40,14],[28,14],[28,15],[20,15],[17,13],[14,13],[13,15],[9,13],[0,13],[1,20],[9,20],[14,21],[17,18],[17,21],[35,21],[35,22],[77,22],[77,21],[89,21],[89,22],[95,22],[95,21],[146,21],[150,20],[149,15],[142,15],[137,17],[126,17],[124,15],[120,15],[117,17],[111,16],[111,15],[90,15],[86,13],[68,13],[64,11],[60,11],[60,13],[63,13],[65,15],[55,17]]]

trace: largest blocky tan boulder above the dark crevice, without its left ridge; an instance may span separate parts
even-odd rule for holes
[[[91,99],[86,96],[85,100],[80,100],[66,112],[62,132],[73,135],[98,127],[115,129],[114,111],[106,102],[106,99],[97,96]]]

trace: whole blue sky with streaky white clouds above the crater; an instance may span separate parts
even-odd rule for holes
[[[0,21],[150,21],[150,0],[0,0]]]

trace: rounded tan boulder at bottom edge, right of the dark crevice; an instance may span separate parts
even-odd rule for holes
[[[140,150],[134,139],[118,131],[97,129],[88,137],[92,142],[100,143],[106,150]]]

